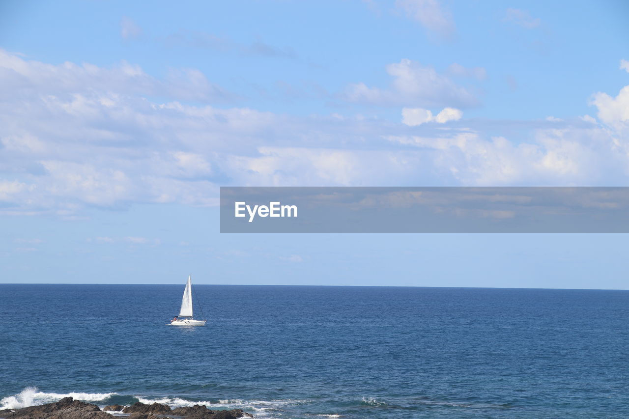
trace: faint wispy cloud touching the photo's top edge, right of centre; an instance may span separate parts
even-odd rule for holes
[[[452,16],[437,0],[396,0],[396,8],[441,38],[450,39],[454,35]]]

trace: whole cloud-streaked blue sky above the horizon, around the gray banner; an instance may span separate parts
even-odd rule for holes
[[[6,1],[0,282],[627,288],[626,235],[221,235],[220,186],[626,186],[624,1]]]

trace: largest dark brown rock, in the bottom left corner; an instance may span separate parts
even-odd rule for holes
[[[98,406],[64,397],[55,403],[28,406],[11,413],[3,413],[5,419],[111,419],[109,413]]]

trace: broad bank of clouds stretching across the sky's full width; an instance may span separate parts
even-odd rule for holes
[[[208,206],[221,185],[629,181],[629,86],[616,96],[595,93],[596,119],[478,121],[465,120],[452,104],[471,96],[430,67],[402,60],[387,70],[391,87],[365,86],[347,100],[400,104],[404,123],[220,108],[230,94],[198,70],[158,79],[128,63],[53,65],[0,52],[0,213]],[[428,108],[446,109],[433,116]],[[509,124],[523,138],[496,135]]]

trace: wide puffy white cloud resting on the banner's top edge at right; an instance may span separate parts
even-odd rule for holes
[[[625,184],[629,147],[598,125],[538,128],[534,142],[513,143],[476,132],[440,137],[389,136],[434,150],[435,170],[463,185],[596,186]]]

